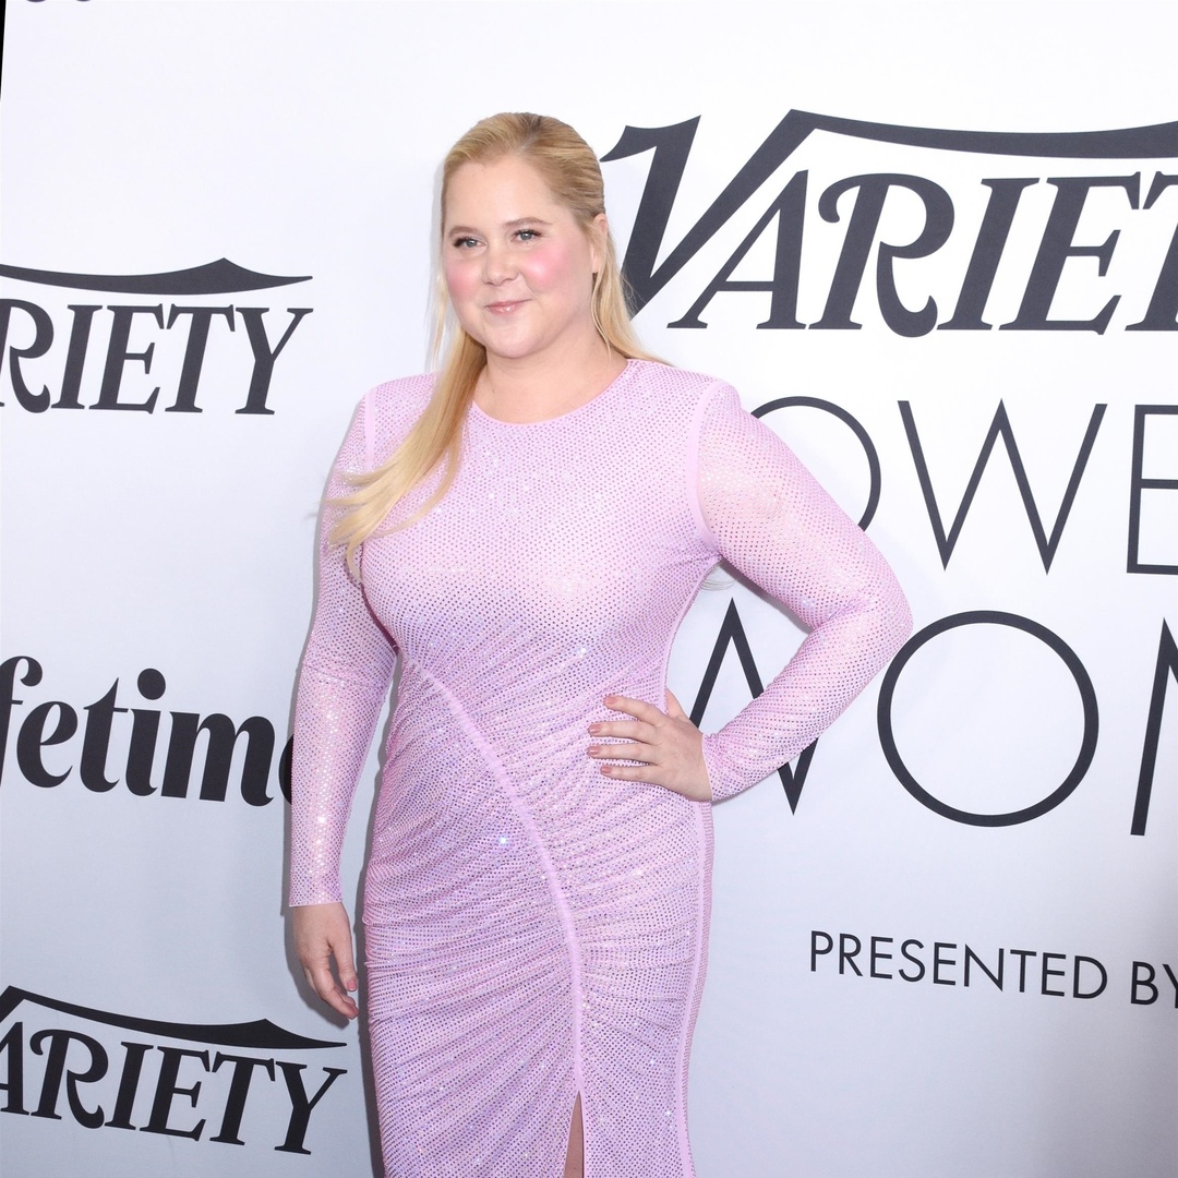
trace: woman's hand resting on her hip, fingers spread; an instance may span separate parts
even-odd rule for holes
[[[633,720],[609,720],[589,726],[590,736],[611,736],[623,744],[590,744],[597,760],[641,761],[603,765],[601,772],[618,781],[647,781],[696,802],[712,801],[712,783],[703,760],[703,734],[687,717],[679,700],[667,693],[667,710],[626,695],[607,695],[605,707]]]

